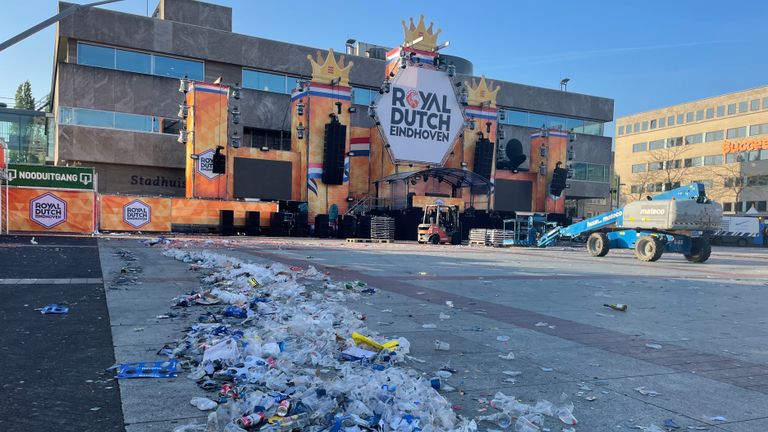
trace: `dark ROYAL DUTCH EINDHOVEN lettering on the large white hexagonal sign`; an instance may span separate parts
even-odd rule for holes
[[[430,141],[447,142],[451,131],[448,96],[432,92],[392,88],[389,134]]]

